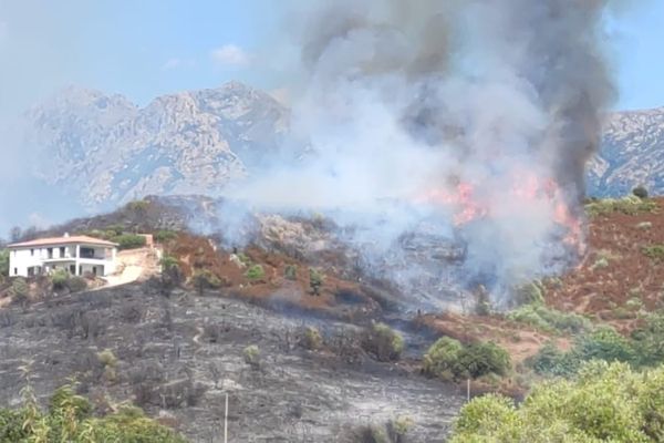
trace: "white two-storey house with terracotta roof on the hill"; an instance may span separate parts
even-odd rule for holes
[[[115,272],[117,244],[87,236],[40,238],[9,248],[10,277],[33,277],[65,269],[71,275],[107,276]]]

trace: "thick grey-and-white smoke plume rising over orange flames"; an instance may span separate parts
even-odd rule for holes
[[[292,114],[307,153],[231,197],[353,227],[345,239],[366,269],[406,295],[443,298],[455,280],[506,301],[581,251],[584,165],[613,93],[606,6],[314,2],[299,20],[305,81]],[[417,259],[424,238],[463,245],[463,264]]]

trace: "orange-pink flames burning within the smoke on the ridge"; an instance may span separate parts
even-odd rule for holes
[[[511,179],[506,199],[528,206],[537,202],[546,202],[552,208],[553,222],[566,228],[562,241],[583,255],[585,245],[582,236],[582,222],[575,217],[562,189],[553,179],[542,181],[536,174],[518,174]],[[415,199],[417,203],[442,205],[454,212],[455,226],[466,225],[475,219],[496,216],[491,214],[491,205],[483,202],[471,183],[455,181],[448,187],[428,189]],[[494,203],[495,204],[495,203]]]

